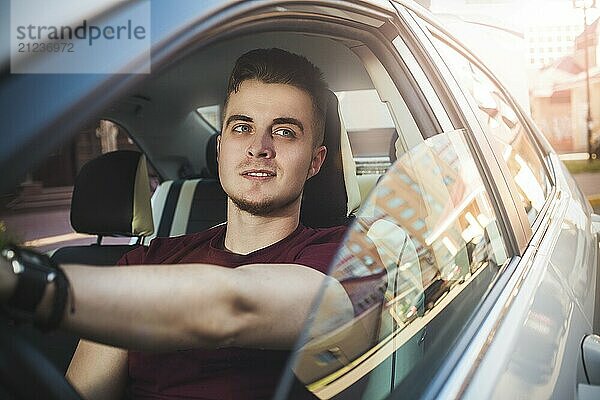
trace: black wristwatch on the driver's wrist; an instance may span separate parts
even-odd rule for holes
[[[56,284],[54,304],[47,321],[35,321],[44,329],[55,328],[62,319],[68,296],[68,281],[63,271],[45,254],[18,246],[9,245],[0,251],[17,276],[17,286],[6,303],[11,317],[20,321],[34,321],[35,310],[40,304],[46,288]]]

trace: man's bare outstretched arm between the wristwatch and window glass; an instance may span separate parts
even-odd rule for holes
[[[291,348],[326,278],[294,264],[62,268],[71,292],[61,327],[108,345],[153,351]],[[351,315],[345,291],[333,284],[331,314]],[[39,318],[47,317],[52,299],[50,290]]]

